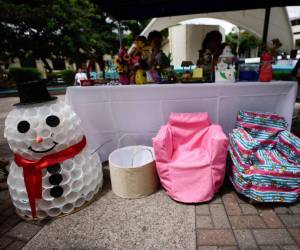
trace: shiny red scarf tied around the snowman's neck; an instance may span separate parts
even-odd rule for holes
[[[35,200],[42,198],[42,169],[73,158],[81,152],[85,145],[86,138],[83,136],[81,141],[77,144],[74,144],[60,152],[46,155],[38,161],[28,160],[18,154],[15,154],[15,163],[18,167],[23,168],[24,182],[33,218],[36,217]]]

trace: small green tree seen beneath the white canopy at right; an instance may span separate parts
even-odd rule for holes
[[[231,47],[232,51],[236,51],[239,39],[239,56],[250,56],[251,49],[255,49],[261,44],[261,40],[248,31],[238,33],[229,33],[226,36],[226,43]]]

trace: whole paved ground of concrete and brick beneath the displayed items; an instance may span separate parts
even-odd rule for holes
[[[15,98],[0,98],[0,158],[12,158],[4,119]],[[19,219],[0,191],[0,249],[300,249],[300,203],[251,205],[226,182],[206,204],[184,205],[163,190],[138,200],[116,197],[108,169],[100,197],[51,221]]]

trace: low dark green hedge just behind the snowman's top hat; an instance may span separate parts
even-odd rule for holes
[[[30,82],[42,79],[42,74],[36,68],[10,68],[9,79],[16,82]]]

